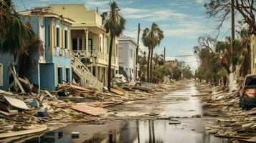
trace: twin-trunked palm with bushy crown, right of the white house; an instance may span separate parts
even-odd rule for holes
[[[159,29],[156,23],[151,25],[151,29],[144,29],[142,34],[143,45],[148,47],[148,64],[147,64],[147,80],[152,82],[152,57],[153,49],[161,43],[163,39],[163,31]],[[150,62],[150,65],[149,65]],[[151,71],[149,72],[149,69]]]

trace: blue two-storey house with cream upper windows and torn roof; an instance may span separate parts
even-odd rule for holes
[[[19,14],[24,22],[29,22],[43,43],[43,49],[37,49],[33,54],[35,62],[27,73],[29,81],[39,89],[49,90],[54,90],[57,84],[71,82],[70,26],[73,21],[52,13],[49,7],[21,11]],[[0,89],[8,89],[13,80],[9,70],[10,61],[14,63],[13,56],[0,55]],[[14,64],[16,69],[23,68]]]

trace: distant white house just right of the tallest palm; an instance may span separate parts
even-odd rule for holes
[[[131,81],[136,77],[136,41],[130,36],[118,38],[119,73]]]

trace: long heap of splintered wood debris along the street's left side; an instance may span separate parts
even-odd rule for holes
[[[59,84],[54,92],[38,92],[28,79],[16,74],[11,64],[10,69],[14,76],[11,92],[0,90],[0,142],[16,142],[70,123],[99,123],[110,111],[108,107],[161,96],[181,87],[179,82],[150,84],[133,81],[118,82],[113,84],[110,92],[99,92],[68,83]]]

